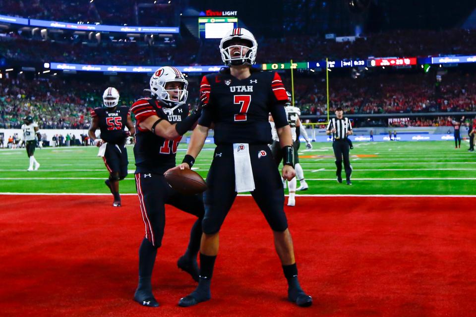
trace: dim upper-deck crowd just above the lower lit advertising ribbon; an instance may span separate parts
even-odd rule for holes
[[[21,31],[20,31],[21,32]],[[40,35],[10,32],[0,37],[0,54],[13,60],[55,61],[113,65],[220,65],[214,52],[219,40],[192,37],[171,38],[169,42],[112,42],[103,37],[100,44],[84,39],[44,41]],[[416,42],[414,39],[418,38]],[[441,41],[444,38],[445,41]],[[475,54],[476,32],[398,31],[371,34],[354,42],[336,42],[322,36],[259,38],[258,63],[319,60],[329,58],[365,59],[368,56],[428,56],[438,54]],[[38,47],[41,50],[30,50]]]

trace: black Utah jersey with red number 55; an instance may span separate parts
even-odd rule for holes
[[[114,110],[104,107],[91,110],[91,117],[99,118],[101,139],[104,142],[118,145],[125,144],[126,133],[124,128],[129,113],[129,108],[126,106],[117,106]]]

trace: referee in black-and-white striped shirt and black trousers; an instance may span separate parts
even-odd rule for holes
[[[337,107],[336,117],[332,118],[327,125],[326,134],[332,133],[332,148],[336,156],[337,181],[342,183],[342,159],[344,158],[344,169],[346,171],[347,185],[351,183],[352,166],[349,160],[348,136],[352,134],[352,125],[348,118],[344,118],[342,107]]]

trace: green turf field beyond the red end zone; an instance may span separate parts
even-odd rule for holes
[[[467,151],[467,142],[458,150],[453,145],[449,141],[356,142],[351,151],[353,185],[347,186],[335,180],[332,144],[313,143],[310,151],[303,144],[299,156],[309,190],[298,193],[475,195],[476,153]],[[205,147],[194,165],[203,177],[213,148]],[[186,144],[180,144],[179,161],[185,149]],[[120,182],[120,192],[135,193],[132,147],[127,150],[131,174]],[[96,147],[37,149],[35,158],[41,167],[27,172],[24,149],[0,150],[0,192],[109,193],[104,185],[108,173],[97,151]]]

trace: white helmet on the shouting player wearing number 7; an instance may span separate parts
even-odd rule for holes
[[[246,43],[246,45],[232,45],[233,40],[241,40]],[[243,43],[244,44],[244,43]],[[233,48],[239,49],[239,54],[233,52]],[[243,53],[243,49],[247,48],[247,52]],[[254,38],[253,34],[243,28],[235,28],[227,32],[227,34],[220,41],[220,53],[222,55],[222,60],[226,66],[230,65],[252,65],[256,59],[256,51],[258,50],[258,43]]]

